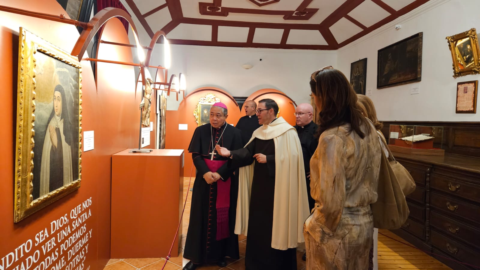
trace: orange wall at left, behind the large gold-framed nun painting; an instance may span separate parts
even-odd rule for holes
[[[66,14],[55,0],[2,0],[2,5],[28,9],[49,14]],[[15,250],[26,240],[35,243],[36,233],[50,228],[50,222],[70,213],[70,210],[85,199],[92,198],[92,216],[85,221],[92,229],[85,254],[84,269],[103,269],[110,257],[110,179],[111,155],[125,148],[136,146],[140,95],[134,94],[133,67],[98,65],[98,88],[96,88],[90,62],[82,61],[83,131],[95,131],[95,149],[82,153],[82,182],[74,193],[61,198],[23,221],[13,223],[13,184],[15,159],[15,123],[17,103],[18,28],[42,37],[58,47],[71,51],[79,37],[73,25],[51,22],[38,18],[0,12],[0,102],[3,111],[0,117],[0,263],[1,258]],[[113,19],[106,25],[104,38],[129,43],[120,21]],[[107,34],[108,33],[108,34]],[[115,36],[115,38],[113,38]],[[105,49],[100,45],[99,58],[115,53],[114,60],[132,61],[131,50],[120,47]],[[86,55],[84,57],[87,57]],[[108,58],[107,58],[108,59]],[[82,149],[83,150],[83,149]],[[50,235],[51,238],[52,235]],[[38,261],[46,258],[40,246],[24,254],[19,261],[40,249]],[[70,259],[69,261],[72,261]],[[34,263],[35,268],[38,263]],[[15,266],[15,264],[12,265]],[[48,268],[50,269],[51,266]]]

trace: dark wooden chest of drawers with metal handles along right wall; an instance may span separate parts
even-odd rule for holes
[[[417,189],[407,196],[408,220],[393,232],[452,269],[480,266],[480,160],[394,155]],[[478,162],[477,169],[463,168],[461,159]]]

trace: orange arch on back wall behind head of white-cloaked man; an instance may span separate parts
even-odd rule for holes
[[[257,102],[264,99],[264,98],[271,98],[275,100],[275,102],[278,104],[278,111],[279,111],[279,117],[283,117],[285,121],[287,121],[289,124],[292,126],[295,125],[295,116],[293,113],[295,112],[295,106],[293,105],[292,101],[288,99],[285,96],[279,95],[279,94],[264,94],[264,93],[270,93],[270,92],[276,92],[276,93],[282,93],[279,90],[276,89],[271,89],[271,88],[264,88],[256,91],[252,95],[250,95],[247,100],[253,99],[253,101]],[[260,97],[258,97],[260,96]],[[258,97],[258,98],[255,98]]]

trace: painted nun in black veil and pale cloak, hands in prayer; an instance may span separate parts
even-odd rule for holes
[[[40,163],[40,196],[44,196],[73,181],[72,132],[65,90],[55,86],[53,110],[47,121]]]

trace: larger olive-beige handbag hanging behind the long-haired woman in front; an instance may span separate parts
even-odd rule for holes
[[[384,138],[382,138],[382,141],[384,141]],[[377,189],[378,199],[375,203],[370,205],[373,213],[373,227],[389,230],[398,229],[403,223],[405,223],[410,211],[408,210],[407,201],[405,200],[405,195],[399,184],[396,172],[385,156],[384,151],[382,150],[381,152],[382,159],[380,161]],[[389,152],[389,156],[393,158],[391,152]],[[398,164],[403,168],[403,166],[396,162],[395,159],[394,162],[395,166]],[[403,168],[403,170],[405,170],[405,168]],[[400,177],[404,177],[404,172],[402,172],[402,170],[399,170],[399,173]],[[407,184],[406,186],[411,188],[411,185]]]

